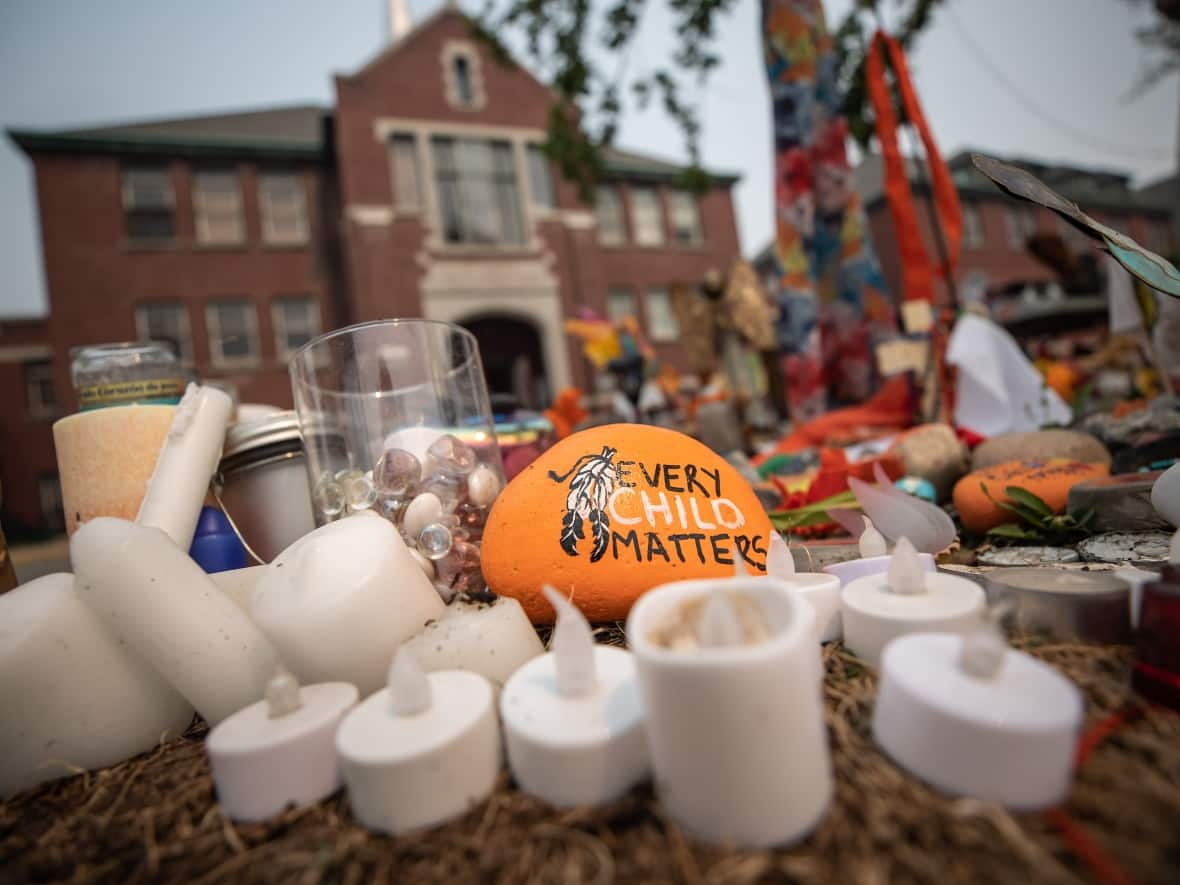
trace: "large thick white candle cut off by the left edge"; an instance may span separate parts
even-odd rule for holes
[[[192,704],[46,575],[0,595],[0,798],[184,733]]]

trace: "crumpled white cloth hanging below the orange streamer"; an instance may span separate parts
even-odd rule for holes
[[[985,437],[1069,424],[1073,409],[1045,386],[1016,339],[991,320],[964,314],[946,360],[958,368],[955,421]]]

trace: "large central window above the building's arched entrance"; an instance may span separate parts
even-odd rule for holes
[[[441,137],[432,144],[442,238],[465,244],[523,243],[512,145]]]

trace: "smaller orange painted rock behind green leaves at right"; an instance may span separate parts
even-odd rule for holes
[[[1061,513],[1069,500],[1069,490],[1081,481],[1104,477],[1110,473],[1107,464],[1087,464],[1068,458],[1050,458],[1047,461],[1004,461],[968,473],[955,485],[955,506],[959,519],[971,531],[985,532],[1002,523],[1017,523],[1020,518],[994,502],[1004,500],[1004,489],[1020,486],[1032,492],[1045,504]],[[988,492],[984,493],[983,489]]]

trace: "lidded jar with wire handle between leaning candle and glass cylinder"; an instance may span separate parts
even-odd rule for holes
[[[263,562],[315,529],[303,438],[294,412],[231,425],[219,473],[222,507]]]

